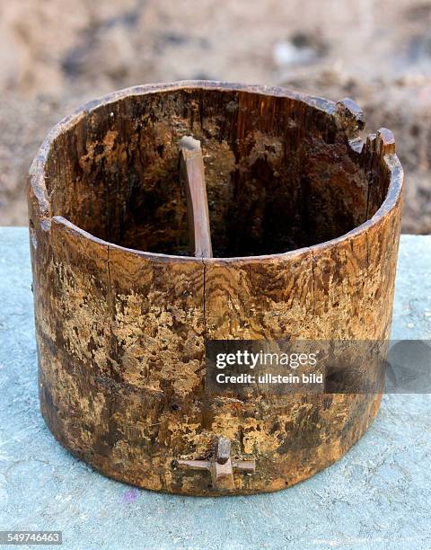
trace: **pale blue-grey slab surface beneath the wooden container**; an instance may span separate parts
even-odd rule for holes
[[[431,338],[431,236],[402,236],[392,334]],[[76,550],[431,548],[431,395],[385,395],[346,457],[272,494],[140,491],[68,455],[38,408],[24,228],[0,228],[0,396],[0,529],[62,530]]]

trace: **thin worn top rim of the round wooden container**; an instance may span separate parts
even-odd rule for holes
[[[92,240],[95,244],[108,245],[110,247],[115,247],[116,249],[122,250],[125,253],[134,253],[138,256],[145,257],[147,259],[154,259],[158,261],[172,260],[175,259],[178,262],[260,262],[266,259],[285,259],[292,258],[295,256],[301,255],[304,251],[321,251],[325,248],[330,248],[336,246],[343,241],[346,241],[349,238],[362,235],[365,231],[369,230],[373,226],[377,226],[385,216],[395,208],[401,198],[402,187],[403,187],[403,170],[400,164],[398,156],[395,154],[395,141],[391,134],[391,131],[388,129],[379,129],[375,136],[376,139],[376,150],[378,154],[383,157],[383,161],[387,166],[388,173],[390,173],[390,182],[388,186],[388,191],[386,197],[383,200],[383,203],[375,212],[374,216],[366,220],[364,223],[359,226],[354,227],[352,230],[348,231],[344,235],[340,235],[328,241],[324,241],[320,244],[312,244],[311,246],[305,246],[302,248],[297,248],[292,251],[285,253],[273,253],[273,254],[262,254],[258,256],[233,256],[233,257],[215,257],[215,258],[195,258],[193,256],[180,256],[176,254],[166,254],[166,253],[150,253],[145,251],[140,251],[133,248],[127,248],[119,244],[110,243],[88,233],[79,226],[75,226],[72,222],[67,220],[65,217],[61,216],[51,216],[49,213],[49,199],[47,195],[47,190],[45,186],[45,166],[48,160],[48,155],[53,145],[54,141],[59,137],[65,130],[72,128],[75,124],[87,117],[93,111],[98,110],[101,106],[106,106],[118,102],[121,99],[126,97],[140,96],[151,93],[169,93],[172,91],[188,89],[188,90],[218,90],[226,92],[242,92],[242,93],[259,93],[262,95],[282,97],[287,99],[293,99],[298,102],[306,103],[311,106],[313,109],[318,111],[323,111],[330,115],[331,117],[336,116],[336,110],[338,103],[331,102],[319,96],[308,95],[304,93],[295,92],[279,86],[263,86],[263,85],[250,85],[250,84],[234,84],[226,82],[216,82],[216,81],[202,81],[202,80],[185,80],[174,83],[166,84],[143,84],[125,88],[119,90],[118,92],[108,93],[101,96],[100,98],[93,100],[91,102],[85,103],[82,107],[79,107],[74,113],[66,116],[64,119],[60,120],[53,129],[50,130],[48,136],[43,141],[38,154],[35,156],[29,173],[29,188],[30,192],[37,201],[40,215],[40,225],[43,229],[49,230],[51,219],[55,219],[57,223],[66,226],[69,230],[74,231],[75,233],[84,236],[89,240]],[[346,126],[347,129],[347,126]],[[354,135],[350,136],[352,139],[358,139],[357,131]],[[366,143],[361,143],[361,151],[359,155],[362,155],[365,151],[365,148],[369,146],[371,140],[374,138],[374,134],[370,134],[367,137]]]

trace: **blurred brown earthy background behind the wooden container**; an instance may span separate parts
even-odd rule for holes
[[[0,226],[27,223],[25,175],[57,120],[189,78],[356,100],[397,139],[403,231],[431,233],[431,2],[415,0],[0,0]]]

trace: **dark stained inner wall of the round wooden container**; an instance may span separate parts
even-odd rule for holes
[[[366,164],[328,113],[259,93],[177,90],[102,105],[48,158],[54,215],[129,248],[187,254],[178,142],[201,141],[215,256],[282,253],[343,235],[367,217]]]

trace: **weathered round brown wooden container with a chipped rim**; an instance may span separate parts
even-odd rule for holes
[[[381,394],[208,395],[208,340],[384,340],[400,234],[391,132],[286,89],[144,85],[66,117],[29,182],[40,407],[104,475],[154,491],[271,492],[342,457]],[[200,140],[213,258],[189,254],[178,142]],[[254,472],[179,460],[217,438]]]

